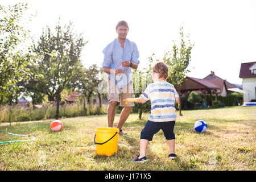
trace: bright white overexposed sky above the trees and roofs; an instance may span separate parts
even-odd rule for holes
[[[32,36],[38,40],[46,25],[54,27],[72,21],[75,30],[89,40],[82,52],[85,67],[101,66],[102,50],[117,37],[119,20],[129,24],[127,38],[135,42],[140,52],[141,67],[153,52],[158,59],[179,40],[179,28],[189,33],[195,43],[188,76],[204,78],[215,75],[233,84],[241,84],[241,63],[256,61],[256,1],[81,1],[81,0],[0,0],[1,5],[28,2],[37,13],[29,24]]]

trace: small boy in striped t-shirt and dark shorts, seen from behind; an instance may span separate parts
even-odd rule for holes
[[[138,103],[142,104],[148,100],[151,101],[151,115],[141,131],[140,152],[139,156],[133,160],[135,163],[146,162],[148,141],[151,141],[160,129],[163,130],[164,137],[168,142],[168,158],[176,158],[174,125],[177,115],[174,105],[179,102],[179,95],[174,85],[166,81],[167,78],[168,66],[163,62],[156,63],[152,68],[153,82],[147,86],[137,100]]]

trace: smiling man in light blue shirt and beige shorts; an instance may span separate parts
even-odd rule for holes
[[[127,133],[122,131],[122,126],[129,117],[134,103],[130,102],[126,105],[123,100],[134,97],[131,68],[138,68],[139,51],[136,44],[126,38],[129,26],[125,21],[118,22],[115,30],[118,37],[102,51],[104,53],[102,67],[103,71],[108,73],[108,126],[113,127],[115,106],[120,104],[123,110],[117,128],[119,134],[124,135]]]

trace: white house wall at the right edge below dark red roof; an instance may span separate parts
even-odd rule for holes
[[[256,78],[243,78],[243,102],[250,102],[253,99],[256,99]]]

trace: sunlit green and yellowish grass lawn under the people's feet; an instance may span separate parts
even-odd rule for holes
[[[148,145],[146,163],[131,162],[139,154],[139,137],[143,120],[130,114],[119,136],[118,153],[99,156],[93,147],[97,127],[106,127],[106,115],[61,119],[63,130],[53,132],[51,121],[0,124],[0,141],[28,139],[7,134],[30,134],[31,142],[0,144],[0,170],[255,170],[256,107],[189,110],[178,116],[175,125],[176,160],[169,160],[168,144],[159,131]],[[114,125],[117,124],[116,115]],[[205,133],[196,133],[195,121],[208,124]],[[31,137],[30,137],[31,138]]]

